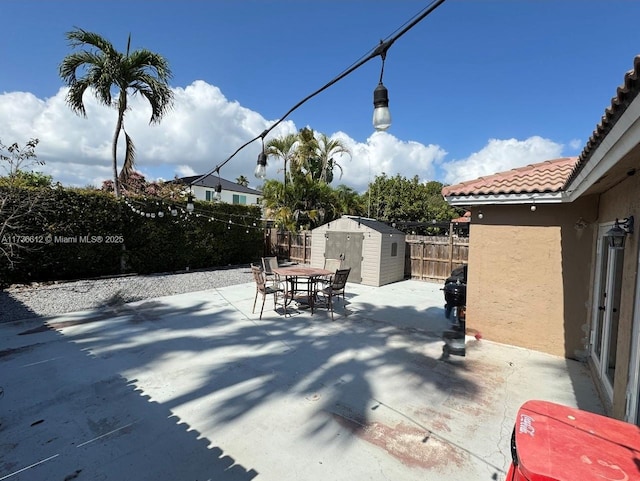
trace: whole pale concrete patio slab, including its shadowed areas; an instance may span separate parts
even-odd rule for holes
[[[473,337],[442,360],[437,284],[349,284],[335,322],[254,294],[0,325],[0,481],[502,480],[522,403],[603,412],[577,362]]]

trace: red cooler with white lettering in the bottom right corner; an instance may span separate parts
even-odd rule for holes
[[[640,480],[640,427],[547,401],[518,411],[507,481]]]

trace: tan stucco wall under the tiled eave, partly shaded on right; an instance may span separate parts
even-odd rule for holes
[[[474,209],[467,327],[496,342],[584,359],[596,205]]]

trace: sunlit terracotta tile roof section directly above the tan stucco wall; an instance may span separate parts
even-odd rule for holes
[[[577,161],[578,157],[563,157],[530,164],[444,187],[442,195],[450,197],[558,192],[564,187]]]

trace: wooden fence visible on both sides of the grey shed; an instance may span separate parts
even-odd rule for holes
[[[457,236],[407,235],[405,247],[406,278],[441,282],[469,258],[469,238]],[[264,255],[277,256],[300,264],[311,262],[311,232],[298,234],[265,230]]]

